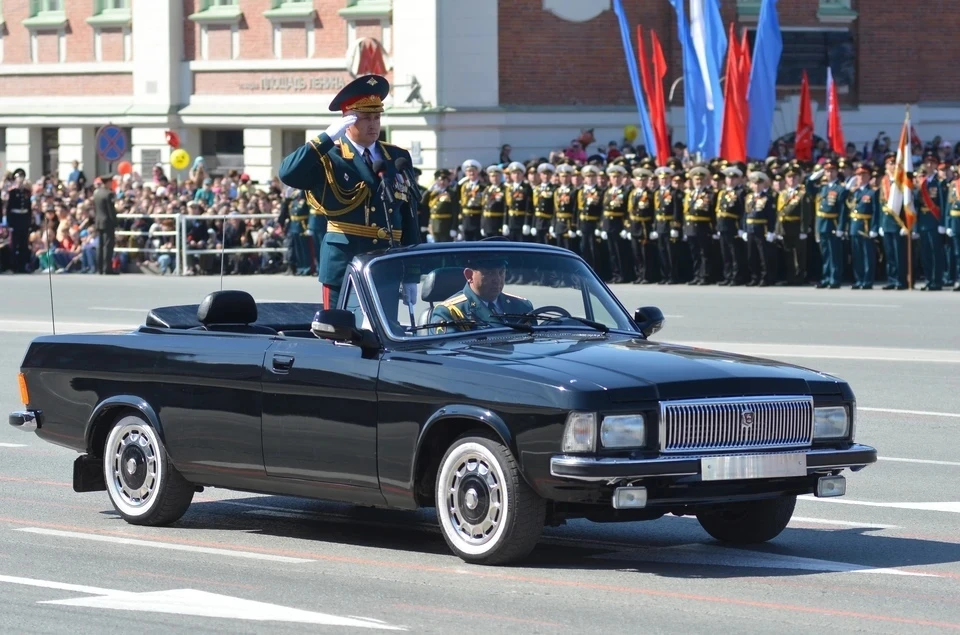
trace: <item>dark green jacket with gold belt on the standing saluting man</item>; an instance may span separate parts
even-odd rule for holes
[[[380,178],[346,137],[335,145],[322,132],[287,155],[280,164],[280,180],[304,190],[310,206],[327,219],[318,278],[336,289],[340,288],[354,256],[390,246],[386,229],[388,208],[396,244],[419,242],[419,200],[412,200],[416,188],[407,177],[397,174],[395,166],[400,157],[411,161],[410,153],[379,141],[377,145],[384,160],[384,180],[392,184],[394,202],[387,201],[386,207],[379,191]]]

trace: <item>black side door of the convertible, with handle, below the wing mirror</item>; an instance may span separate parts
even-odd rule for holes
[[[348,279],[344,308],[365,319]],[[269,476],[378,488],[380,356],[316,337],[274,342],[263,368],[263,459]]]

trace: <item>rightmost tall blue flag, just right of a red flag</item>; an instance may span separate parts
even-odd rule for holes
[[[753,43],[753,64],[747,103],[750,122],[747,124],[747,157],[763,159],[770,151],[773,111],[777,107],[777,67],[783,52],[777,0],[763,0],[757,20],[757,36]]]

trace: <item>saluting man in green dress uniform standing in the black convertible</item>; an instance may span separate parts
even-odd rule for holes
[[[280,164],[280,180],[305,190],[310,204],[327,217],[318,278],[328,309],[337,306],[354,256],[420,240],[418,188],[396,169],[400,158],[411,165],[410,153],[378,141],[383,99],[389,90],[387,79],[380,75],[364,75],[347,84],[330,102],[330,110],[340,111],[341,118]],[[373,171],[379,160],[384,161],[382,179]],[[383,187],[393,190],[392,203],[385,200]],[[415,192],[412,200],[411,190]],[[412,305],[415,296],[416,283],[405,280],[404,302]]]

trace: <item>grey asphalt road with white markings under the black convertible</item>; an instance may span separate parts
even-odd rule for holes
[[[216,278],[55,276],[58,331],[134,325]],[[228,277],[259,300],[314,280]],[[960,293],[625,285],[664,341],[839,374],[881,459],[847,496],[802,499],[762,547],[695,520],[547,529],[522,566],[465,565],[432,510],[395,513],[206,490],[173,527],[138,528],[72,491],[75,454],[0,427],[0,630],[31,633],[831,633],[960,630]],[[531,298],[535,299],[535,298]],[[0,277],[0,411],[49,332],[47,278]]]

